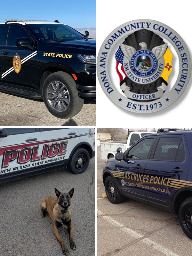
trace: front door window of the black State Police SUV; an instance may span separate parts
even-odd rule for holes
[[[24,28],[22,28],[21,26],[10,26],[6,45],[15,45],[17,38],[21,37],[27,37],[32,42],[32,39]]]

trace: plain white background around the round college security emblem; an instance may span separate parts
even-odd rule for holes
[[[183,4],[182,4],[183,3]],[[101,44],[108,34],[125,22],[137,19],[151,19],[160,21],[174,29],[184,40],[190,56],[192,48],[192,14],[190,1],[96,1],[96,26],[97,26],[97,55]],[[169,45],[170,46],[170,45]],[[172,51],[172,48],[171,48]],[[175,56],[172,51],[173,56]],[[114,65],[113,81],[119,85],[118,75],[115,69],[115,57],[111,65]],[[173,67],[176,77],[171,76],[169,84],[174,84],[178,76],[177,62]],[[192,79],[190,79],[185,92],[168,108],[151,114],[136,114],[117,107],[105,95],[97,79],[97,127],[132,127],[133,124],[143,126],[172,127],[178,124],[191,122]],[[117,86],[116,86],[117,87]],[[176,125],[173,125],[176,124]],[[141,125],[141,126],[142,126]]]

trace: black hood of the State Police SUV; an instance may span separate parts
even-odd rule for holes
[[[80,40],[71,40],[71,41],[65,41],[60,43],[50,42],[49,45],[63,48],[63,50],[66,47],[69,47],[69,48],[72,47],[76,49],[76,52],[78,54],[96,54],[96,39],[80,39]]]

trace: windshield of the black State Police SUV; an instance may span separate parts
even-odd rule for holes
[[[82,39],[82,35],[63,24],[29,24],[36,36],[43,41],[70,41]]]

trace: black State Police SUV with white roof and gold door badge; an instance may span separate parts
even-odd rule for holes
[[[44,21],[0,24],[0,91],[43,99],[52,115],[75,116],[96,98],[96,39]]]

